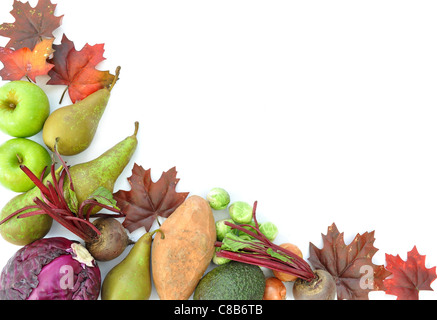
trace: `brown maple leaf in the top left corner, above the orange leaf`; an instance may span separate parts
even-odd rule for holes
[[[6,47],[33,50],[41,40],[53,38],[53,31],[61,25],[63,17],[56,17],[55,9],[56,4],[50,0],[39,0],[35,8],[15,0],[11,11],[15,22],[0,25],[0,36],[11,38]]]

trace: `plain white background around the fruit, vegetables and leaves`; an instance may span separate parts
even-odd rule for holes
[[[13,22],[12,3],[0,2],[0,22]],[[376,264],[416,245],[437,265],[435,1],[57,3],[55,44],[63,33],[77,50],[105,43],[98,69],[122,67],[91,147],[69,164],[94,159],[138,120],[115,191],[129,188],[134,162],[154,180],[176,166],[179,192],[221,186],[232,200],[258,200],[259,220],[305,258],[335,222],[346,243],[375,230]],[[58,108],[64,87],[37,80]],[[1,206],[13,196],[1,188]],[[55,235],[76,239],[57,224]],[[18,248],[0,239],[0,265]],[[119,259],[100,263],[103,276]]]

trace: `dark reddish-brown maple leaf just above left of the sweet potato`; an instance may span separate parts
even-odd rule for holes
[[[168,218],[188,196],[188,192],[176,192],[179,179],[175,167],[163,172],[157,182],[152,181],[150,172],[135,163],[128,178],[131,190],[114,194],[117,206],[126,215],[123,226],[129,232],[141,227],[148,232],[158,216]]]

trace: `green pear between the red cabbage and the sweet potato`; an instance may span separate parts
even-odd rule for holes
[[[144,234],[113,267],[102,284],[102,300],[148,300],[152,291],[150,247],[154,232]]]

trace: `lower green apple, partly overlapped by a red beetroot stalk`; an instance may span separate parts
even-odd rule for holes
[[[33,140],[14,138],[3,143],[0,146],[0,183],[15,192],[26,192],[35,186],[20,169],[21,164],[40,178],[44,168],[52,164],[52,159],[49,152]]]

